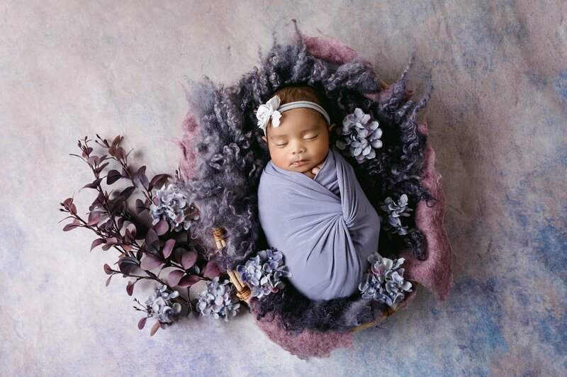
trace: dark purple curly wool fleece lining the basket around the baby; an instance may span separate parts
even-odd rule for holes
[[[341,62],[344,56],[321,59],[310,53],[297,27],[296,37],[285,45],[274,39],[259,67],[232,86],[215,86],[207,77],[189,85],[191,112],[184,123],[181,172],[189,201],[201,210],[201,220],[191,225],[191,234],[210,244],[214,227],[226,229],[227,246],[222,254],[211,250],[221,269],[235,269],[268,246],[259,226],[257,187],[269,151],[254,110],[281,86],[307,84],[318,89],[327,99],[332,122],[337,124],[357,107],[378,120],[383,147],[376,158],[364,164],[349,160],[374,208],[379,208],[384,198],[398,198],[404,193],[410,206],[432,199],[420,181],[427,145],[416,122],[417,111],[427,103],[430,91],[421,101],[410,99],[406,80],[412,60],[398,81],[381,90],[380,80],[366,60],[354,55],[346,62]],[[332,135],[332,142],[335,140]],[[381,235],[382,255],[409,248],[417,259],[425,259],[425,239],[411,223],[413,218],[408,219],[410,229],[414,228],[408,235]],[[288,288],[254,305],[259,305],[258,317],[274,317],[275,313],[291,332],[347,330],[381,315],[384,309],[377,310],[360,295],[311,302]]]

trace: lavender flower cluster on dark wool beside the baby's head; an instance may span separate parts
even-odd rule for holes
[[[365,114],[360,108],[347,115],[342,120],[342,128],[337,129],[339,140],[336,144],[339,150],[346,150],[349,155],[357,159],[359,164],[368,159],[374,159],[374,149],[382,147],[382,130],[378,128],[378,121],[370,121],[370,114]]]

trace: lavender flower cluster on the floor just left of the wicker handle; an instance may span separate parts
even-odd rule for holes
[[[238,313],[240,303],[232,289],[234,286],[225,280],[219,283],[218,276],[207,283],[207,288],[199,293],[197,309],[201,315],[228,322]]]

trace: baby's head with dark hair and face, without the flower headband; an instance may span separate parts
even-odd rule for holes
[[[310,86],[285,86],[278,89],[271,98],[274,96],[279,97],[280,107],[296,101],[309,101],[320,106],[319,110],[303,105],[283,110],[279,125],[274,127],[274,118],[271,118],[266,127],[266,135],[262,137],[268,144],[271,161],[276,167],[299,173],[311,171],[327,157],[330,130],[335,126],[325,118],[328,115],[322,110],[324,99]],[[277,124],[277,120],[275,123]]]

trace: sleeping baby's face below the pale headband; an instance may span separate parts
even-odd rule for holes
[[[278,127],[268,125],[271,161],[283,170],[305,173],[322,162],[329,152],[332,125],[310,108],[293,108],[281,113]]]

